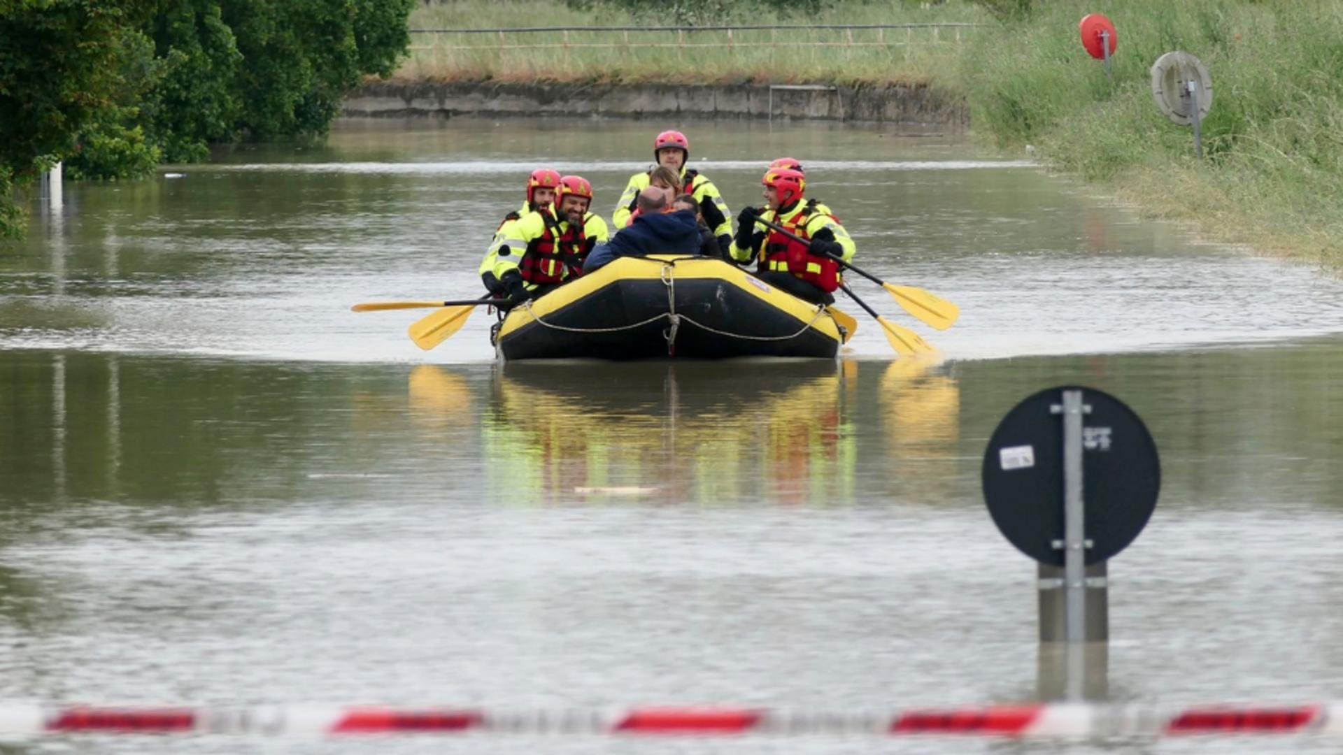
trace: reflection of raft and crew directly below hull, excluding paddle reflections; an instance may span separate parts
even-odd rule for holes
[[[506,363],[482,418],[488,486],[545,502],[841,502],[857,458],[829,360]]]

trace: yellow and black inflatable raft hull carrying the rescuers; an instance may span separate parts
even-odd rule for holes
[[[624,257],[514,308],[506,360],[596,357],[833,359],[842,333],[825,309],[719,259]]]

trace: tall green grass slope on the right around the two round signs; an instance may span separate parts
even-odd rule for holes
[[[1037,3],[1011,44],[967,51],[971,128],[1033,144],[1061,171],[1209,238],[1343,267],[1343,3],[1086,0]],[[1113,81],[1081,48],[1077,20],[1115,21]],[[1193,130],[1163,117],[1150,67],[1170,50],[1213,77]]]

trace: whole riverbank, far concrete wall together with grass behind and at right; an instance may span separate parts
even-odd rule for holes
[[[461,12],[467,5],[475,11]],[[1077,21],[1089,12],[1108,15],[1119,30],[1112,78],[1081,47]],[[411,26],[445,28],[462,17],[474,27],[501,28],[518,27],[517,19],[584,28],[639,23],[623,11],[469,0],[450,8],[422,5]],[[744,20],[799,23],[759,15],[723,19]],[[924,36],[911,31],[907,38],[882,36],[885,43],[874,42],[874,30],[821,27],[992,17],[971,3],[838,3],[802,20],[813,28],[788,32],[782,52],[766,43],[771,35],[778,40],[778,32],[767,30],[752,32],[756,36],[737,32],[731,44],[727,32],[694,32],[689,47],[680,48],[653,32],[624,32],[622,44],[608,47],[583,36],[599,32],[565,32],[535,46],[508,35],[474,35],[463,43],[470,50],[451,54],[442,39],[416,35],[393,81],[365,86],[346,102],[346,112],[406,114],[420,102],[447,114],[768,117],[771,83],[835,86],[839,97],[790,93],[780,101],[775,90],[775,117],[787,110],[823,120],[968,122],[979,141],[1009,153],[1031,145],[1037,160],[1150,216],[1191,223],[1211,240],[1343,269],[1339,0],[1035,3],[1026,20],[964,27],[959,43],[950,32],[933,39],[928,27],[920,27]],[[850,39],[855,44],[843,44]],[[1190,129],[1170,122],[1152,102],[1148,69],[1176,48],[1198,55],[1213,75],[1202,160],[1194,156]],[[849,97],[854,103],[841,113]],[[373,102],[377,98],[381,103]]]

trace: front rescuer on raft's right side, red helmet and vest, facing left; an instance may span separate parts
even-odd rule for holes
[[[790,294],[814,302],[834,304],[839,287],[839,263],[849,262],[855,251],[849,231],[829,208],[817,200],[804,200],[806,177],[800,171],[770,168],[760,180],[766,208],[747,207],[737,216],[732,258],[739,263],[755,259],[756,275]],[[770,220],[803,239],[798,242],[757,223]],[[831,257],[833,255],[833,257]]]

